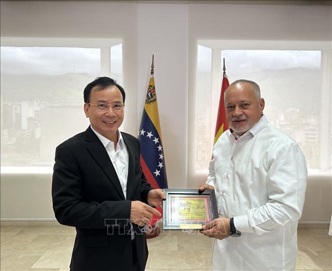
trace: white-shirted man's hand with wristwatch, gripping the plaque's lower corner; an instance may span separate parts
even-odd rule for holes
[[[203,225],[200,233],[211,238],[223,240],[229,237],[231,232],[229,221],[229,218],[219,217]]]

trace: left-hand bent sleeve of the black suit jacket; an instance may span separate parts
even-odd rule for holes
[[[60,224],[79,228],[105,229],[109,219],[128,225],[131,201],[84,202],[82,176],[72,153],[60,145],[55,150],[52,201]]]

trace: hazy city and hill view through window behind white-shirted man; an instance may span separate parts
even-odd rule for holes
[[[196,170],[207,171],[218,108],[211,108],[212,49],[198,46]],[[319,168],[321,51],[224,50],[229,82],[248,79],[261,87],[269,122],[292,136],[308,168]],[[331,134],[327,135],[331,138]],[[211,150],[211,151],[208,151]]]

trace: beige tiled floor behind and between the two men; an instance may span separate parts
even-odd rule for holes
[[[75,230],[64,226],[1,226],[1,271],[68,271]],[[299,229],[297,270],[332,270],[332,237]],[[148,239],[146,271],[210,270],[212,240],[171,231]]]

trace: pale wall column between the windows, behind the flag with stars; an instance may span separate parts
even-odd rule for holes
[[[187,187],[188,4],[137,5],[137,123],[154,54],[168,185]]]

